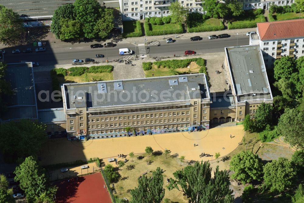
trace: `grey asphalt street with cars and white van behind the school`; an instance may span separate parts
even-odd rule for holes
[[[147,54],[153,56],[168,56],[168,55],[183,55],[186,50],[193,50],[196,53],[217,53],[223,52],[224,47],[236,45],[248,45],[249,37],[246,34],[232,35],[229,38],[209,40],[203,37],[201,41],[190,41],[190,39],[174,39],[173,43],[166,44],[166,41],[159,41],[160,45],[146,46]],[[19,48],[19,47],[15,47]],[[20,61],[39,62],[40,66],[71,64],[73,59],[91,58],[95,60],[106,60],[106,48],[90,48],[88,45],[79,47],[65,47],[51,49],[46,46],[46,52],[35,53],[34,47],[31,47],[32,53],[12,54],[12,49],[5,48],[5,61],[7,63],[14,63]],[[108,48],[108,59],[117,59],[119,56],[119,48],[130,48],[135,51],[133,44],[117,44],[115,47]],[[19,48],[22,51],[22,48]],[[136,46],[136,53],[138,54],[138,47]],[[103,54],[105,58],[95,58],[95,54]]]

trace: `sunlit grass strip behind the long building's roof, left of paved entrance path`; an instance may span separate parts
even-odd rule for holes
[[[81,76],[60,76],[57,75],[59,83],[84,83],[87,82],[85,74]],[[113,80],[113,73],[88,73],[89,82]]]

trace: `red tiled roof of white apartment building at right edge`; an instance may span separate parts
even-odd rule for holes
[[[257,29],[262,41],[304,37],[304,19],[257,23]]]

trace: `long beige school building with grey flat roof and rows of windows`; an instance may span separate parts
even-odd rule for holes
[[[64,84],[67,136],[93,139],[209,129],[206,75]],[[131,131],[131,134],[132,131]]]

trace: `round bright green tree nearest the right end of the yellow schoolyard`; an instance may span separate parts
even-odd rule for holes
[[[243,184],[261,180],[262,166],[262,159],[258,155],[251,151],[241,151],[231,158],[230,170],[234,171],[231,177],[240,180]]]

